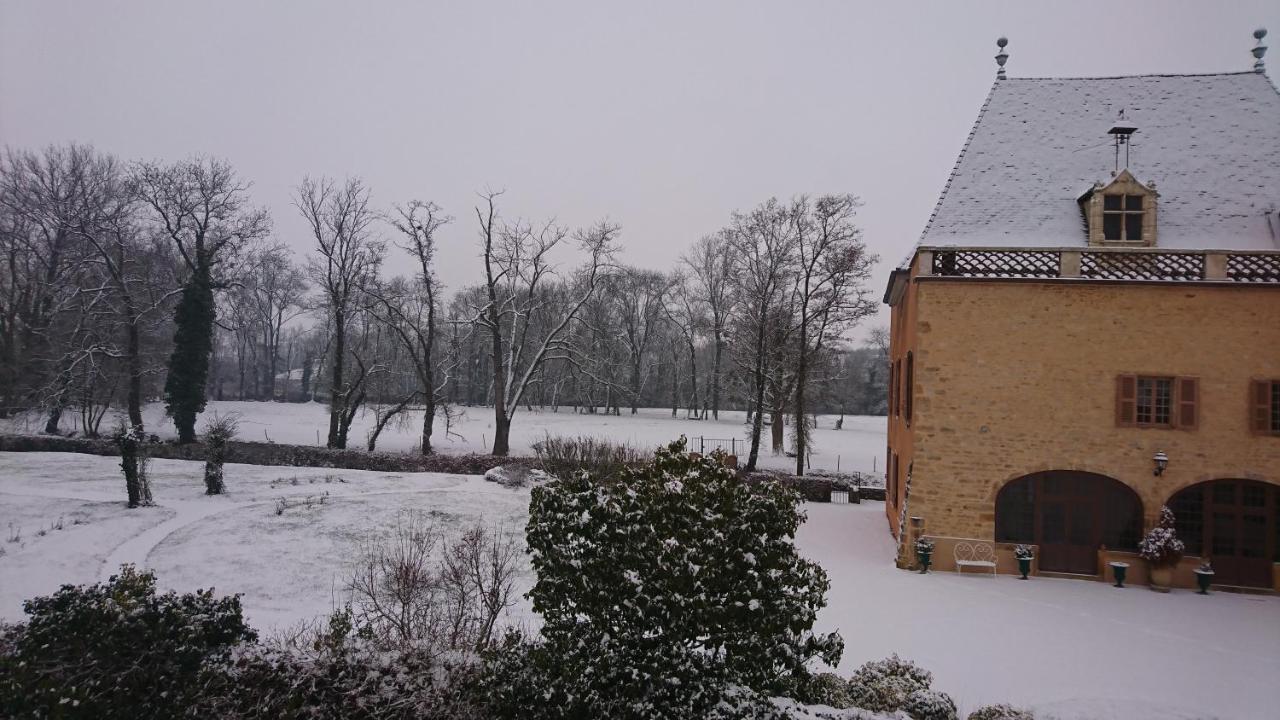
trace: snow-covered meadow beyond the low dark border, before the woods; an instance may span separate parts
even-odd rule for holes
[[[489,452],[493,447],[493,409],[460,407],[462,421],[453,427],[452,437],[444,437],[444,424],[438,421],[431,443],[442,452]],[[201,424],[214,414],[239,416],[239,437],[248,441],[271,441],[291,445],[324,445],[329,428],[329,411],[319,402],[210,402],[201,416]],[[884,418],[845,416],[844,429],[835,429],[837,415],[819,415],[818,429],[813,433],[813,454],[809,459],[814,470],[864,470],[884,471]],[[76,418],[64,416],[64,429],[74,429]],[[147,432],[161,437],[174,437],[173,423],[164,416],[164,406],[148,405],[143,419]],[[671,416],[671,409],[645,407],[636,415],[623,409],[621,416],[577,415],[568,407],[559,413],[521,407],[511,425],[511,451],[515,455],[532,455],[532,445],[547,436],[591,436],[608,437],[614,442],[632,445],[639,448],[652,448],[666,445],[681,434],[690,438],[691,448],[698,450],[698,438],[707,438],[707,450],[713,450],[712,439],[719,439],[726,450],[736,448],[745,457],[744,438],[748,427],[742,411],[721,413],[719,420],[686,420],[685,414]],[[104,428],[110,424],[104,421]],[[369,430],[374,425],[371,414],[356,418],[351,428],[351,447],[364,448]],[[0,420],[0,429],[35,432],[44,427],[40,418],[27,416],[18,420]],[[422,433],[422,411],[404,415],[404,423],[388,427],[378,438],[378,450],[412,451],[417,447]],[[760,455],[762,468],[795,468],[795,459],[785,455],[774,456],[768,450],[769,429],[764,429],[764,448]],[[736,441],[731,443],[730,441]],[[787,428],[787,447],[791,443]]]

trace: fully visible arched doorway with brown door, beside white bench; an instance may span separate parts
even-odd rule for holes
[[[1033,473],[996,496],[996,542],[1039,546],[1039,566],[1096,575],[1098,548],[1137,550],[1142,500],[1115,478],[1078,470]]]

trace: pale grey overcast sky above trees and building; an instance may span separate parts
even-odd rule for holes
[[[772,195],[851,192],[878,293],[996,37],[1014,77],[1203,73],[1249,69],[1258,26],[1280,42],[1280,3],[0,0],[0,143],[227,158],[300,254],[292,188],[361,176],[380,206],[457,218],[452,288],[479,278],[489,186],[508,217],[621,223],[625,260],[652,268]]]

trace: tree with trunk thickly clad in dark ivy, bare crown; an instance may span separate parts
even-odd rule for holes
[[[174,310],[174,346],[164,400],[178,442],[196,441],[196,416],[205,410],[209,355],[218,310],[214,292],[225,287],[223,269],[241,249],[270,229],[265,210],[248,205],[248,183],[230,164],[195,158],[173,165],[141,163],[138,196],[160,231],[173,241],[186,278]]]

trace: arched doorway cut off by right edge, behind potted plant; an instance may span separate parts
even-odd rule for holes
[[[1210,480],[1169,501],[1188,555],[1213,564],[1221,585],[1272,587],[1280,562],[1280,488],[1257,480]]]

